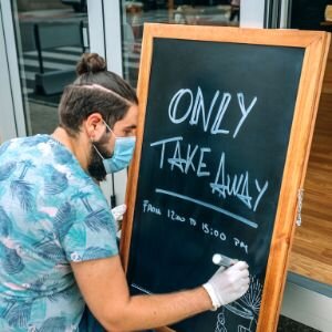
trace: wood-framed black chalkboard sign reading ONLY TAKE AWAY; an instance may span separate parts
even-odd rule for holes
[[[172,329],[257,331],[266,305],[261,331],[276,326],[326,43],[320,32],[145,27],[122,243],[131,292],[198,287],[216,252],[250,267],[241,299]]]

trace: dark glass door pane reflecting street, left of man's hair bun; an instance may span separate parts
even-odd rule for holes
[[[27,134],[52,133],[63,87],[87,50],[87,13],[65,1],[12,1]]]

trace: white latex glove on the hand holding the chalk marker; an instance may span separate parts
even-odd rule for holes
[[[227,270],[220,267],[211,279],[203,286],[208,292],[214,309],[241,298],[249,288],[249,270],[245,261],[238,261]]]

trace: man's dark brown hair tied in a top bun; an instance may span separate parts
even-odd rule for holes
[[[59,105],[59,122],[69,135],[75,136],[84,120],[98,112],[113,127],[132,105],[138,105],[135,90],[121,76],[106,70],[96,53],[85,53],[76,66],[77,79],[68,85]]]

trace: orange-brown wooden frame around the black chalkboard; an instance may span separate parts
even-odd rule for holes
[[[277,45],[305,50],[257,326],[257,331],[261,332],[276,331],[295,228],[298,191],[303,188],[330,34],[297,30],[145,24],[138,77],[141,112],[137,145],[128,175],[126,193],[128,210],[123,222],[121,241],[125,269],[128,264],[133,229],[154,38]],[[276,280],[282,282],[274,283]]]

